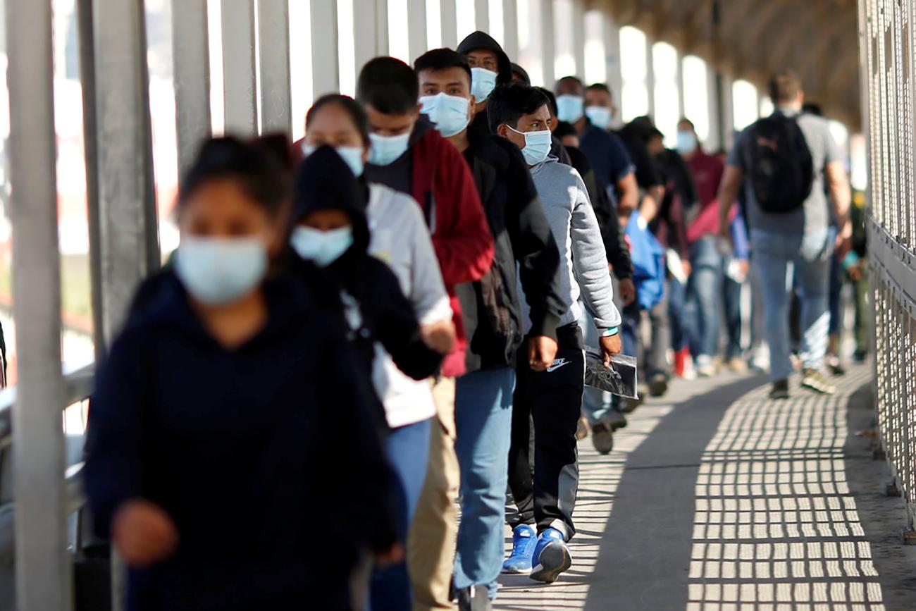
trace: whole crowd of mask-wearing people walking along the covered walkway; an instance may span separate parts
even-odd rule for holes
[[[91,401],[86,494],[128,606],[476,610],[500,573],[556,581],[577,437],[610,452],[638,404],[583,386],[583,347],[605,366],[638,355],[663,395],[689,368],[714,375],[724,295],[737,368],[748,265],[769,287],[774,398],[790,260],[803,384],[829,392],[819,278],[848,197],[823,121],[786,118],[791,78],[765,127],[778,143],[801,127],[816,176],[781,213],[755,199],[759,138],[724,166],[687,121],[677,150],[649,117],[615,131],[606,85],[532,87],[484,32],[412,67],[370,60],[295,144],[204,143],[180,247],[138,289]]]

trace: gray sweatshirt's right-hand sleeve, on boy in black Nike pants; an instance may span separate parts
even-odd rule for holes
[[[620,325],[620,312],[614,305],[614,286],[607,267],[605,243],[582,178],[578,172],[575,172],[575,176],[578,186],[570,226],[573,271],[579,289],[582,290],[585,306],[594,316],[595,326],[598,329],[609,329]]]

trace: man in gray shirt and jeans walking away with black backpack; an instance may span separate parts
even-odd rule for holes
[[[770,398],[789,397],[790,263],[802,293],[802,387],[833,394],[834,386],[821,371],[829,322],[827,287],[830,256],[834,250],[843,256],[852,234],[849,182],[827,122],[801,112],[804,93],[795,72],[774,74],[769,93],[776,112],[748,127],[728,158],[719,191],[720,227],[727,238],[728,214],[744,184],[753,265],[764,294]],[[831,213],[836,232],[830,229]]]

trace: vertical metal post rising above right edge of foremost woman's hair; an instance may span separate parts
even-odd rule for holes
[[[258,52],[261,58],[261,131],[292,130],[289,91],[289,0],[258,0]]]

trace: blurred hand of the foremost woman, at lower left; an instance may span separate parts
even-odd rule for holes
[[[126,501],[112,521],[112,542],[128,566],[144,568],[178,549],[178,528],[162,507],[142,498]]]

